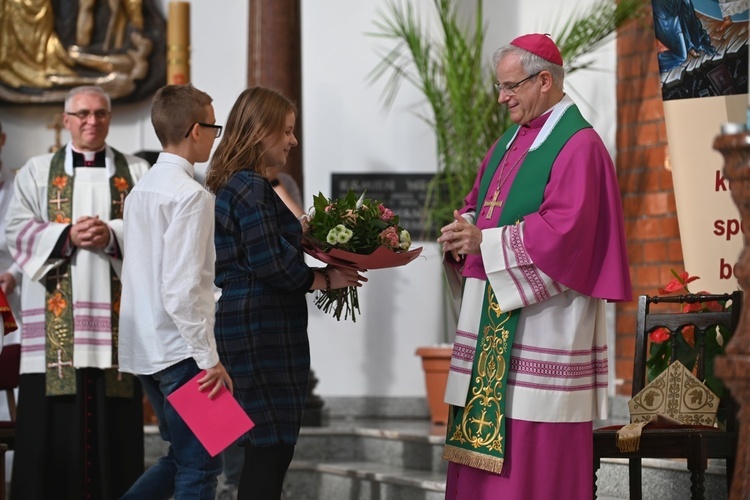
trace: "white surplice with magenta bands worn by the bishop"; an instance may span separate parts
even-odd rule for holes
[[[485,230],[481,244],[500,309],[522,308],[508,371],[507,417],[533,422],[605,419],[605,302],[557,283],[536,267],[524,250],[523,228],[521,222]],[[466,403],[484,290],[484,280],[466,278],[445,394],[445,402],[455,406]]]

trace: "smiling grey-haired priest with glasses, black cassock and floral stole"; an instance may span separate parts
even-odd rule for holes
[[[24,283],[14,499],[119,498],[143,472],[141,389],[117,371],[117,338],[122,202],[148,163],[107,146],[110,118],[99,87],[72,89],[70,143],[15,178],[6,236]]]

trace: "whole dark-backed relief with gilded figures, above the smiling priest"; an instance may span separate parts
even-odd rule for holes
[[[165,66],[154,0],[0,0],[0,101],[62,102],[78,85],[137,101],[166,83]]]

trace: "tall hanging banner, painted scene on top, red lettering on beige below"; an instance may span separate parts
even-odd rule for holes
[[[711,293],[732,292],[745,234],[713,143],[746,121],[750,0],[651,3],[685,269]]]

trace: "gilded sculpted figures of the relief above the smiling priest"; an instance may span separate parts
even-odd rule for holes
[[[133,93],[136,81],[147,78],[153,50],[153,42],[143,33],[143,0],[107,2],[110,17],[103,43],[89,48],[96,0],[80,0],[78,43],[66,49],[55,31],[51,0],[0,0],[0,99],[61,101],[78,85],[99,85],[113,99]],[[109,51],[111,44],[116,52]]]

